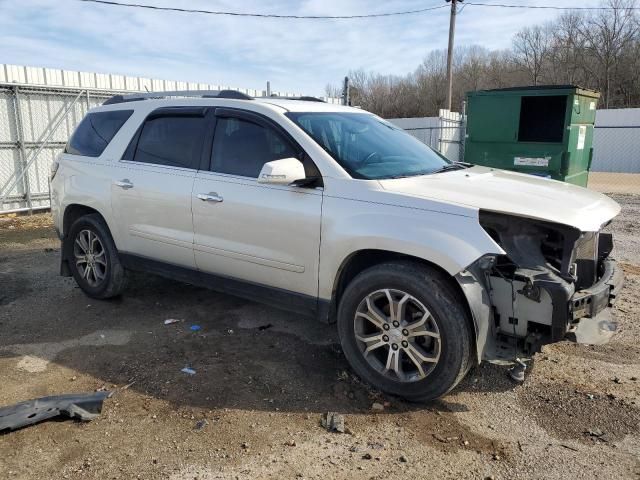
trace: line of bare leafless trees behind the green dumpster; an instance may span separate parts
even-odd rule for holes
[[[635,0],[606,0],[603,10],[569,11],[527,26],[511,48],[473,45],[454,53],[453,110],[465,92],[525,85],[579,85],[601,92],[599,108],[640,107],[640,18]],[[382,117],[428,117],[444,108],[446,50],[427,54],[415,71],[349,72],[351,104]],[[328,85],[327,95],[340,96]]]

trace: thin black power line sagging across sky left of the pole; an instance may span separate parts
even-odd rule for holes
[[[418,10],[405,10],[402,12],[386,12],[386,13],[370,13],[366,15],[278,15],[271,13],[244,13],[244,12],[226,12],[218,10],[197,10],[179,7],[159,7],[156,5],[145,5],[140,3],[114,2],[110,0],[78,0],[80,2],[99,3],[102,5],[110,5],[117,7],[130,8],[146,8],[148,10],[163,10],[181,13],[204,13],[208,15],[225,15],[232,17],[258,17],[258,18],[283,18],[283,19],[307,19],[307,20],[342,20],[342,19],[360,19],[360,18],[376,18],[376,17],[395,17],[399,15],[414,15],[424,13],[431,10],[448,7],[448,5],[438,5],[435,7],[420,8]]]

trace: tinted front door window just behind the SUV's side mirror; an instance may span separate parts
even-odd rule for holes
[[[296,150],[273,128],[242,118],[218,118],[212,171],[258,178],[265,163],[290,157],[297,157]]]

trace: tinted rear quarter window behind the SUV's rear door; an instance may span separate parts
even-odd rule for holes
[[[133,110],[112,110],[88,114],[73,132],[64,152],[99,157],[132,113]]]

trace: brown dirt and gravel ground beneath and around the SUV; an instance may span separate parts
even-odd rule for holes
[[[0,218],[0,406],[116,392],[92,422],[0,435],[0,477],[640,478],[640,197],[615,198],[627,284],[612,340],[547,346],[522,385],[482,364],[430,404],[363,385],[310,319],[139,274],[90,300],[57,275],[48,215]],[[347,433],[320,426],[328,411]]]

